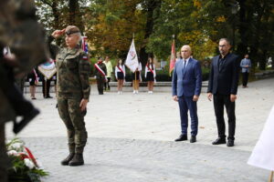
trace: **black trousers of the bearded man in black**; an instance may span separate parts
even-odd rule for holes
[[[213,96],[214,109],[216,115],[216,126],[218,129],[219,137],[226,137],[226,124],[224,118],[224,106],[227,109],[228,116],[228,139],[235,139],[235,127],[236,127],[236,116],[235,116],[235,102],[230,101],[230,95],[216,94]]]

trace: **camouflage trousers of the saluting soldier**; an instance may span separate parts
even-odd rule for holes
[[[84,113],[79,108],[81,98],[82,96],[58,93],[58,113],[67,127],[70,153],[83,153],[87,143]]]

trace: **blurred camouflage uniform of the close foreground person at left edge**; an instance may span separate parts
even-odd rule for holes
[[[47,51],[43,44],[43,31],[35,17],[33,1],[2,0],[0,12],[0,179],[5,182],[6,168],[10,167],[5,151],[5,122],[15,120],[17,116],[15,100],[11,100],[7,94],[14,88],[14,76],[24,75],[39,62],[47,60]],[[5,46],[9,46],[16,55],[16,62],[12,66],[6,65],[3,56]],[[16,89],[12,91],[16,92]]]

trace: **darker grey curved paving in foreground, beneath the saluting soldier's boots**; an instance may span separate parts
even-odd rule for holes
[[[259,182],[269,173],[247,165],[249,152],[189,142],[89,138],[85,166],[62,167],[65,137],[25,138],[50,172],[45,182]]]

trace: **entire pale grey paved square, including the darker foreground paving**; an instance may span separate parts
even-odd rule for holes
[[[273,106],[274,78],[248,86],[238,88],[236,146],[232,148],[211,145],[216,139],[216,119],[213,103],[205,93],[198,101],[197,143],[174,143],[180,135],[180,120],[171,93],[99,96],[94,86],[85,117],[89,133],[85,166],[59,165],[68,149],[66,128],[54,98],[44,99],[37,94],[33,103],[41,114],[17,136],[26,141],[50,172],[45,182],[263,182],[269,171],[250,167],[247,160]],[[6,125],[8,138],[15,136],[11,128],[12,123]]]

